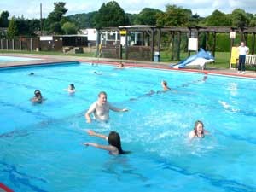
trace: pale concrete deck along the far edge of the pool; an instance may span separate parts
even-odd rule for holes
[[[22,67],[22,66],[31,66],[31,65],[44,65],[44,64],[55,64],[55,63],[68,63],[68,62],[89,62],[89,63],[97,63],[100,62],[102,64],[110,64],[110,65],[119,65],[119,60],[116,59],[107,59],[107,58],[91,58],[91,57],[82,57],[82,56],[69,56],[69,55],[35,55],[35,54],[0,54],[0,56],[19,56],[19,57],[29,57],[41,60],[32,60],[32,61],[7,61],[0,62],[0,68],[2,67]],[[245,74],[237,73],[235,69],[218,69],[212,67],[211,64],[207,64],[205,70],[201,70],[199,68],[185,68],[185,69],[173,69],[169,67],[168,63],[163,62],[150,62],[150,61],[126,61],[122,60],[126,67],[148,67],[148,68],[160,68],[166,70],[173,71],[182,71],[182,72],[190,72],[190,73],[208,73],[214,75],[227,75],[234,76],[237,78],[250,78],[256,79],[255,71],[246,71]]]

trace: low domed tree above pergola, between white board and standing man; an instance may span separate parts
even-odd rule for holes
[[[206,18],[207,26],[231,26],[231,19],[228,15],[219,10],[213,11],[212,15]]]

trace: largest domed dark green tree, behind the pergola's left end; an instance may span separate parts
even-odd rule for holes
[[[119,3],[110,1],[107,4],[103,3],[102,7],[95,15],[95,27],[111,27],[124,26],[129,24],[129,19],[125,15],[124,9],[119,6]]]

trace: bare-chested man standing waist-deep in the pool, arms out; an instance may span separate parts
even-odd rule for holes
[[[87,123],[91,122],[90,114],[93,113],[96,120],[108,121],[109,109],[114,112],[126,112],[127,108],[115,108],[107,101],[107,93],[101,91],[98,94],[98,100],[90,105],[89,110],[85,113]]]

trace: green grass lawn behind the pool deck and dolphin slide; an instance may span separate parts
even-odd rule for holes
[[[20,50],[0,50],[0,53],[19,53],[19,54],[35,54],[35,55],[63,55],[63,56],[81,56],[81,57],[96,57],[95,53],[87,52],[83,54],[65,54],[61,51],[20,51]],[[191,53],[193,55],[195,53]],[[182,52],[180,59],[184,60],[188,57],[188,53]],[[171,53],[168,51],[162,51],[160,53],[160,61],[166,63],[177,63],[177,61],[171,61]],[[216,52],[215,62],[208,64],[210,67],[216,68],[229,68],[230,67],[230,53],[229,52]]]

